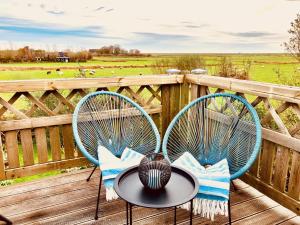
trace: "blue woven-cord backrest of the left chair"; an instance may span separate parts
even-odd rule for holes
[[[160,148],[160,135],[151,117],[137,103],[118,93],[99,91],[82,98],[72,124],[76,144],[95,165],[99,165],[99,145],[117,157],[126,147],[143,154],[158,152]]]

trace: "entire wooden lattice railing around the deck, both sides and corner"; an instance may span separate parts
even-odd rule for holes
[[[193,99],[229,91],[246,98],[263,125],[260,156],[243,180],[300,214],[300,88],[207,75],[26,80],[0,83],[0,180],[87,165],[71,128],[76,103],[110,90],[142,105],[163,135]]]

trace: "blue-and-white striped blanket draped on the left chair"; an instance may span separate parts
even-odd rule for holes
[[[106,189],[106,200],[111,201],[119,196],[114,190],[114,180],[123,170],[138,165],[144,157],[136,151],[125,148],[121,158],[116,157],[107,148],[98,146],[98,159],[100,170],[102,171],[102,179]]]

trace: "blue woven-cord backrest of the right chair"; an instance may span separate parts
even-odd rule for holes
[[[170,123],[162,144],[173,162],[190,152],[201,165],[226,158],[231,179],[245,173],[261,145],[261,125],[244,98],[229,93],[203,96],[184,107]]]

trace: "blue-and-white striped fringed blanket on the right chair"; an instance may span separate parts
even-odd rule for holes
[[[230,172],[226,159],[205,168],[189,152],[185,152],[172,165],[188,170],[199,182],[199,191],[193,200],[194,214],[212,221],[218,214],[228,216]],[[190,204],[186,203],[181,208],[189,210]]]

